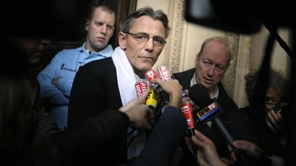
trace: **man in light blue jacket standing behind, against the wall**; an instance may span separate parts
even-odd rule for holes
[[[37,77],[40,96],[60,128],[67,126],[69,97],[78,68],[113,53],[108,42],[114,32],[114,12],[106,5],[97,4],[90,4],[88,12],[84,25],[86,42],[77,49],[60,51]]]

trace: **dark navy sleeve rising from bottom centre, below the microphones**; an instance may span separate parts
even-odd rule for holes
[[[153,128],[145,148],[131,166],[171,165],[173,154],[188,128],[185,117],[175,107],[166,107],[160,120]]]

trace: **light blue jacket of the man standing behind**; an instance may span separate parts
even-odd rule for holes
[[[113,53],[111,45],[98,53],[89,53],[85,49],[85,45],[86,43],[77,49],[64,49],[58,52],[37,77],[40,83],[40,96],[53,107],[51,116],[61,128],[66,126],[69,96],[79,67],[90,61],[110,57]],[[57,77],[62,78],[58,81],[57,86],[52,85],[51,81]]]

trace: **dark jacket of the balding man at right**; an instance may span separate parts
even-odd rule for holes
[[[186,70],[184,72],[174,73],[173,76],[175,77],[175,79],[177,79],[180,82],[180,84],[182,85],[182,87],[184,87],[184,89],[190,89],[190,80],[193,78],[193,74],[195,74],[195,68]],[[219,87],[219,97],[217,98],[217,102],[219,103],[219,106],[223,109],[223,112],[219,114],[219,117],[223,123],[230,122],[234,119],[230,118],[229,115],[232,114],[233,111],[236,111],[238,107],[234,102],[234,100],[232,100],[232,98],[228,96],[222,83],[219,83],[218,87]],[[225,125],[225,127],[227,128],[227,125]],[[212,123],[212,128],[210,128],[208,125],[201,125],[201,124],[196,124],[195,128],[201,131],[201,133],[204,133],[204,135],[206,135],[213,141],[219,153],[225,152],[225,148],[227,147],[227,142],[225,141],[220,130],[217,128],[217,126],[214,123]],[[190,156],[190,154],[188,154],[187,156]],[[189,159],[186,159],[186,160],[189,160]]]

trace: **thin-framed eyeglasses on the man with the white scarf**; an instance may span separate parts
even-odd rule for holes
[[[153,44],[156,46],[164,46],[166,44],[166,40],[164,38],[161,38],[159,36],[150,36],[147,33],[130,33],[130,32],[123,32],[131,35],[134,37],[138,42],[146,43],[150,39],[150,37],[153,38]]]

